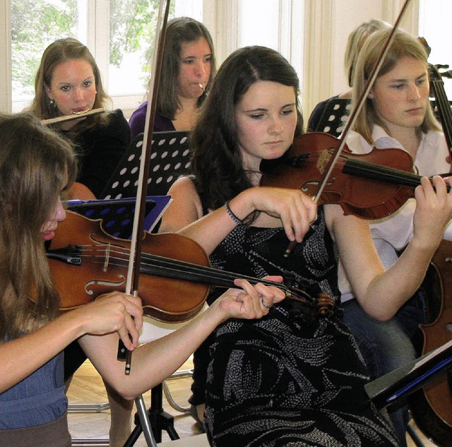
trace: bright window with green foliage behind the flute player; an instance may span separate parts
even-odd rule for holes
[[[13,112],[28,105],[34,95],[34,76],[44,49],[69,36],[92,52],[114,107],[135,108],[143,100],[159,0],[10,1]],[[194,16],[200,3],[173,1],[169,16],[175,11]]]

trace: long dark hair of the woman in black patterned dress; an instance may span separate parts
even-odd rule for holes
[[[203,204],[219,208],[251,184],[239,150],[235,107],[258,81],[272,81],[294,88],[297,98],[295,136],[302,134],[299,80],[295,69],[278,52],[267,47],[244,47],[230,54],[220,66],[210,93],[191,131],[192,171],[203,194]]]

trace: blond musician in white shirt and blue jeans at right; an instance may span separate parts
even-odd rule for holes
[[[353,80],[353,104],[362,95],[364,85],[382,51],[388,32],[378,31],[364,43]],[[352,104],[352,107],[353,107]],[[407,32],[399,30],[388,49],[362,112],[346,142],[354,153],[369,153],[372,148],[400,148],[412,156],[420,174],[432,176],[449,172],[448,148],[444,134],[434,119],[429,102],[429,73],[424,47]],[[376,250],[386,268],[398,259],[413,234],[415,200],[410,199],[393,215],[371,222]],[[444,237],[451,239],[452,225]],[[341,270],[342,272],[342,270]],[[343,273],[343,272],[342,272]],[[340,275],[345,302],[345,321],[356,335],[372,379],[417,357],[411,338],[425,323],[422,293],[418,292],[390,321],[370,318],[354,297],[352,287]],[[401,445],[406,445],[408,407],[389,413]]]

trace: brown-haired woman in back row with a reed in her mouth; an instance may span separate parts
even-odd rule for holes
[[[191,129],[215,71],[215,51],[206,26],[190,17],[169,20],[153,130]],[[148,101],[143,102],[129,120],[132,138],[144,132],[147,107]]]

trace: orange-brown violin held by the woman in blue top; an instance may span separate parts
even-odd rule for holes
[[[101,220],[67,212],[47,249],[52,275],[60,293],[61,310],[93,301],[102,293],[126,290],[131,242],[110,236]],[[167,323],[186,321],[201,311],[210,287],[235,287],[235,278],[274,285],[306,305],[307,310],[327,314],[333,301],[321,294],[313,298],[283,283],[251,278],[209,266],[205,251],[180,234],[143,234],[140,287],[143,313]]]

